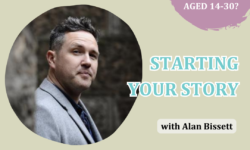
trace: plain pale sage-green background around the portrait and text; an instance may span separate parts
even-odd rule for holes
[[[88,4],[104,8],[125,21],[139,42],[143,81],[240,82],[235,98],[141,97],[120,128],[102,142],[69,146],[29,131],[12,111],[5,91],[5,69],[12,44],[21,30],[43,12],[59,6]],[[1,149],[248,149],[250,18],[240,28],[203,31],[183,19],[170,0],[158,1],[5,1],[1,3]],[[149,71],[154,55],[239,57],[239,71]],[[159,134],[158,119],[235,119],[235,134]]]

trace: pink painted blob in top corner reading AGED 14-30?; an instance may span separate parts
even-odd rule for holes
[[[247,19],[250,0],[171,0],[175,10],[202,30],[239,27]]]

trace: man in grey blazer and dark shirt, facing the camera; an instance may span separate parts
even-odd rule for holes
[[[48,76],[36,90],[35,132],[47,139],[84,145],[102,140],[80,100],[96,77],[98,34],[87,18],[67,18],[50,36]]]

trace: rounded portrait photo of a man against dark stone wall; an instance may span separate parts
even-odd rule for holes
[[[5,84],[17,118],[35,134],[69,145],[112,135],[136,97],[142,57],[131,28],[89,5],[53,8],[31,21],[9,54]]]

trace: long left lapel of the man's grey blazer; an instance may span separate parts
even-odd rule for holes
[[[43,80],[42,84],[40,85],[40,88],[49,93],[51,96],[53,96],[54,99],[68,112],[69,116],[73,119],[73,121],[79,127],[80,131],[84,134],[87,140],[90,143],[95,143],[93,138],[89,134],[89,131],[85,127],[81,118],[79,117],[71,103],[68,101],[68,99],[46,78]]]

